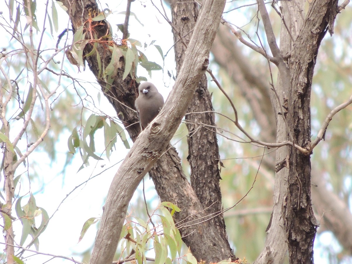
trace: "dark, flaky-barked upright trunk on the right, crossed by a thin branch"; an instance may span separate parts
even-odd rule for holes
[[[264,1],[258,1],[258,6],[270,50],[274,57],[278,58],[279,77],[276,89],[279,101],[276,95],[273,95],[272,99],[272,102],[277,102],[274,106],[278,117],[277,139],[291,140],[299,146],[307,147],[310,143],[310,92],[315,56],[329,23],[330,25],[333,23],[337,14],[335,12],[337,1],[313,1],[301,28],[300,23],[297,23],[298,16],[295,17],[293,11],[296,9],[297,13],[301,12],[303,2],[283,3],[283,18],[289,26],[288,29],[282,27],[281,31],[289,30],[291,33],[288,38],[281,36],[281,45],[290,49],[287,66],[283,64],[285,61],[283,54],[286,53],[276,45]],[[296,32],[299,33],[296,35]],[[313,242],[317,224],[310,199],[310,157],[296,149],[285,147],[277,151],[276,162],[285,159],[287,167],[280,170],[276,176],[276,182],[280,181],[282,184],[280,187],[284,188],[275,190],[276,193],[278,190],[282,192],[275,196],[279,197],[279,201],[274,205],[274,214],[276,207],[280,207],[281,203],[289,262],[313,263]],[[281,228],[273,224],[274,222],[269,232],[272,228]]]

